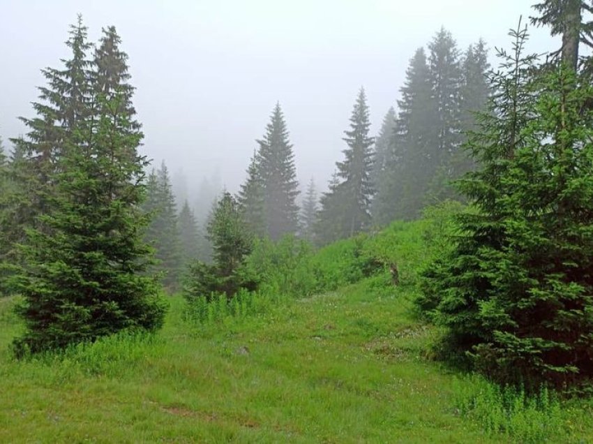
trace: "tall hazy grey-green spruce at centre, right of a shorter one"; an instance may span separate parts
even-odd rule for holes
[[[288,130],[280,103],[273,109],[270,123],[261,140],[258,170],[264,190],[264,210],[267,235],[278,240],[296,232],[299,224],[299,182],[296,181],[294,154],[288,140]]]

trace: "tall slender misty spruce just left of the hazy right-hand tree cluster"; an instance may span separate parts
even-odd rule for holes
[[[344,131],[348,145],[343,151],[345,159],[336,163],[338,183],[321,200],[316,231],[322,243],[352,236],[370,225],[370,201],[375,189],[371,178],[374,139],[368,135],[369,128],[366,94],[361,88],[350,117],[350,130]]]

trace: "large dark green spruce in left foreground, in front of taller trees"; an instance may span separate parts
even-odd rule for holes
[[[22,247],[25,265],[15,281],[27,332],[15,341],[20,354],[163,323],[158,285],[140,274],[149,254],[137,209],[142,134],[120,131],[130,125],[118,112],[119,94],[101,105],[110,112],[81,122],[63,145],[42,227],[29,230]]]

